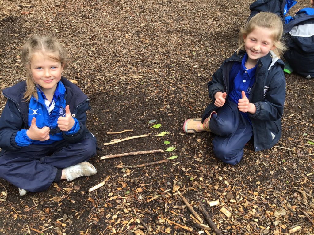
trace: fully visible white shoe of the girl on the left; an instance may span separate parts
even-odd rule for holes
[[[68,181],[74,180],[81,176],[91,176],[97,173],[95,167],[89,162],[81,162],[74,166],[69,166],[63,169],[65,177]]]

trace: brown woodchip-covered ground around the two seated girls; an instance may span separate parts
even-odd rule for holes
[[[20,52],[27,35],[56,36],[69,54],[63,76],[89,96],[88,128],[102,148],[90,160],[96,175],[44,192],[20,197],[1,179],[0,233],[214,234],[194,226],[180,192],[207,224],[201,201],[222,234],[314,234],[313,80],[286,76],[282,138],[262,152],[249,144],[236,166],[215,159],[210,133],[182,131],[208,104],[207,81],[236,50],[252,2],[0,0],[0,88],[25,79]],[[1,111],[5,102],[1,96]],[[133,131],[107,134],[125,129]],[[103,145],[143,134],[149,136]],[[175,149],[100,159],[169,147]]]

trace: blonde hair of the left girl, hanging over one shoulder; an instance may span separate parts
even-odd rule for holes
[[[38,99],[38,85],[35,83],[30,69],[30,62],[36,52],[40,52],[50,59],[60,62],[64,68],[67,67],[67,53],[57,39],[51,36],[30,36],[24,43],[21,55],[27,71],[25,101],[29,101],[32,96]]]

